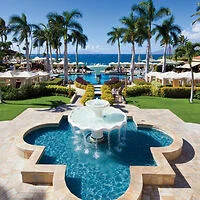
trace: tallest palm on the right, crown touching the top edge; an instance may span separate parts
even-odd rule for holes
[[[139,5],[134,5],[132,11],[136,11],[139,14],[139,17],[146,20],[146,29],[148,31],[147,35],[147,51],[146,51],[146,68],[145,74],[149,70],[149,59],[151,56],[151,37],[152,37],[152,23],[155,20],[162,18],[163,16],[169,15],[170,10],[168,8],[161,7],[156,10],[153,0],[146,0],[139,3]]]

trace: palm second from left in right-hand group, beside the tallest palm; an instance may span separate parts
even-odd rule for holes
[[[131,44],[131,65],[130,65],[130,81],[133,82],[134,79],[134,69],[135,69],[135,42],[139,45],[143,43],[143,34],[145,30],[143,29],[143,20],[136,18],[133,13],[129,17],[123,17],[121,19],[122,24],[125,26],[123,28],[123,39],[122,42]]]

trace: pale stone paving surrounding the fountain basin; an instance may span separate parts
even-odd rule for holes
[[[21,172],[27,170],[27,168],[31,170],[33,166],[30,166],[30,159],[25,159],[24,156],[20,155],[18,146],[19,135],[41,124],[59,123],[63,115],[68,115],[77,106],[80,106],[79,102],[63,105],[56,109],[29,108],[11,121],[0,122],[0,200],[77,199],[73,195],[68,196],[67,193],[64,197],[59,196],[64,192],[63,185],[60,183],[62,181],[59,182],[63,177],[58,178],[58,184],[54,187],[23,183]],[[132,116],[137,124],[153,125],[167,133],[173,132],[175,136],[183,139],[181,155],[177,159],[169,161],[173,169],[172,172],[176,174],[174,185],[156,186],[147,184],[144,185],[143,189],[139,188],[139,190],[142,189],[142,195],[128,194],[120,199],[138,199],[138,196],[144,200],[200,199],[200,124],[185,123],[169,110],[139,109],[125,104],[116,104],[115,107],[122,109],[128,116]],[[165,163],[166,168],[168,168],[166,159],[162,157],[159,162]],[[65,166],[60,166],[60,168],[54,166],[55,173],[57,171],[63,172],[63,170],[65,170]],[[62,175],[62,173],[60,174]],[[142,179],[137,181],[141,182]]]

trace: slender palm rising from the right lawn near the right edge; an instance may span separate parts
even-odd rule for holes
[[[194,94],[194,73],[192,68],[192,58],[199,54],[199,48],[200,48],[200,43],[193,44],[192,42],[187,42],[184,46],[179,46],[175,50],[175,56],[180,57],[184,55],[187,58],[188,63],[190,65],[191,77],[192,77],[190,103],[193,102],[193,94]]]

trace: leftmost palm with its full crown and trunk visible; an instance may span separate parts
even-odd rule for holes
[[[14,32],[14,36],[18,36],[18,41],[21,44],[25,41],[26,49],[26,68],[29,71],[29,37],[31,35],[32,29],[37,26],[34,24],[29,24],[27,22],[26,15],[22,13],[22,16],[13,15],[9,20],[10,30]]]

